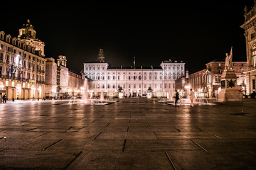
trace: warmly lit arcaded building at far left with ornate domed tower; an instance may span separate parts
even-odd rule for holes
[[[0,32],[0,97],[7,99],[43,98],[46,81],[44,42],[28,20],[12,38]]]

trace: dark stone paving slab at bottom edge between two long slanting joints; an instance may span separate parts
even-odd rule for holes
[[[156,159],[158,158],[158,159]],[[83,152],[68,169],[172,169],[164,152]]]

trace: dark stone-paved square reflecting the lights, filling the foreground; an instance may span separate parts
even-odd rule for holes
[[[0,169],[256,169],[256,101],[0,105]]]

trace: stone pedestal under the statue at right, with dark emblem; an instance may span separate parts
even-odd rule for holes
[[[237,87],[238,77],[233,69],[224,70],[221,76],[221,91],[218,94],[218,101],[242,101],[242,94]]]

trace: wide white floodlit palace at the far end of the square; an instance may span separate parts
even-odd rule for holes
[[[159,67],[109,67],[102,49],[97,61],[84,63],[85,77],[92,79],[90,96],[144,96],[151,89],[156,97],[169,97],[175,80],[185,74],[185,63],[166,60]],[[122,97],[122,96],[119,96]]]

